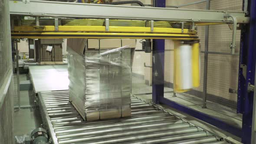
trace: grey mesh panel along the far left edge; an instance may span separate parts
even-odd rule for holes
[[[11,54],[9,0],[0,0],[0,144],[14,144],[13,82],[7,82],[12,72]]]

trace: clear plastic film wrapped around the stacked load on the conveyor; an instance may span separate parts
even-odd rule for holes
[[[69,100],[85,121],[131,115],[133,48],[68,48]]]

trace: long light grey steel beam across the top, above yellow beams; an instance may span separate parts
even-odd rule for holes
[[[232,23],[224,20],[226,14],[239,17],[238,23],[247,23],[244,12],[221,10],[188,10],[177,8],[133,7],[86,3],[67,3],[43,0],[9,0],[10,14],[25,16],[84,17],[102,19],[168,20],[191,22]],[[96,13],[97,12],[97,13]],[[100,15],[98,13],[101,13]]]

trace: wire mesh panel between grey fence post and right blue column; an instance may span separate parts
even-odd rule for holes
[[[210,10],[242,11],[243,0],[210,0]],[[224,107],[236,109],[241,31],[236,32],[235,55],[231,55],[232,30],[228,25],[209,26],[207,98]]]

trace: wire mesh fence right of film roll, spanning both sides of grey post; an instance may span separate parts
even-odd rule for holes
[[[242,11],[242,6],[243,0],[210,0],[210,10]],[[207,3],[195,3],[179,8],[206,10]],[[181,95],[199,98],[202,101],[205,86],[207,103],[236,109],[237,94],[230,93],[230,90],[236,91],[238,85],[240,30],[236,33],[235,55],[230,54],[232,30],[228,25],[209,26],[208,51],[205,49],[206,26],[197,26],[197,30],[201,48],[200,87],[181,93]],[[208,55],[207,60],[204,59],[205,54]],[[207,68],[204,68],[204,62],[207,62]],[[203,80],[204,75],[207,75],[206,80]]]

